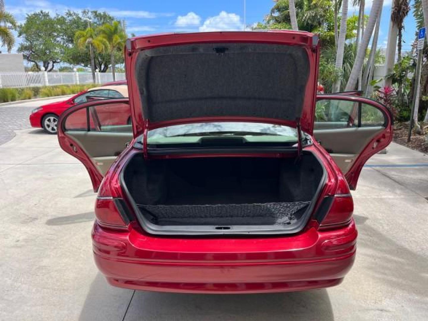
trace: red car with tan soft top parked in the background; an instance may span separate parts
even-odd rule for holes
[[[57,123],[59,116],[68,108],[73,107],[77,104],[82,104],[89,101],[92,97],[93,99],[113,99],[113,98],[127,98],[128,97],[128,87],[122,86],[126,85],[123,81],[114,82],[116,85],[107,85],[104,84],[101,87],[95,87],[83,92],[79,92],[77,95],[65,100],[58,101],[51,104],[46,104],[40,107],[35,108],[30,114],[30,124],[32,127],[43,128],[49,134],[56,134],[57,132]],[[125,120],[131,121],[130,115],[124,113],[122,117],[125,117]],[[76,122],[84,124],[86,119],[80,119]],[[78,123],[76,123],[78,125]]]

